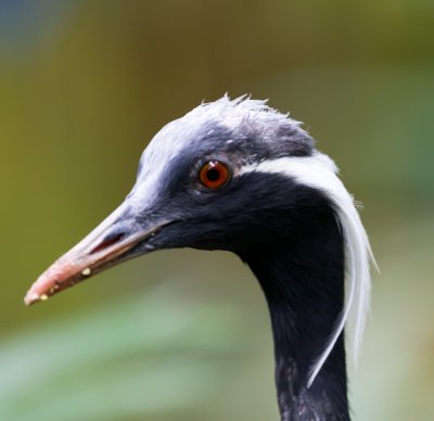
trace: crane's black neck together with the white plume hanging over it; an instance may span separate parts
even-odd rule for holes
[[[357,356],[373,260],[367,234],[326,155],[282,157],[241,170],[258,173],[297,184],[286,200],[295,192],[301,200],[301,207],[286,207],[286,215],[269,221],[267,251],[243,257],[269,305],[282,420],[349,420],[344,326],[354,323]]]

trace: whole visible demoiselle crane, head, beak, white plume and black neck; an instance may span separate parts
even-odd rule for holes
[[[374,260],[336,174],[301,124],[266,101],[203,103],[154,137],[124,203],[25,303],[162,248],[233,252],[268,303],[281,420],[349,420],[344,327],[357,353]]]

